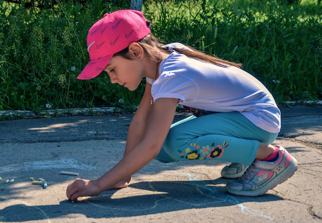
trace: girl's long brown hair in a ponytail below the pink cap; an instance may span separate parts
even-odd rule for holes
[[[146,23],[148,27],[150,27],[150,23],[147,22]],[[146,37],[144,37],[143,39],[139,40],[137,42],[144,50],[144,53],[147,54],[147,56],[156,62],[160,62],[160,58],[159,58],[159,51],[161,52],[165,52],[165,53],[170,53],[169,50],[165,47],[163,47],[163,44],[160,44],[159,41],[152,35],[152,34],[148,34]],[[202,62],[207,62],[207,63],[212,63],[212,64],[216,64],[218,66],[221,67],[227,67],[227,66],[234,66],[234,67],[241,67],[240,63],[233,63],[233,62],[229,62],[227,60],[223,60],[220,59],[216,56],[210,56],[207,55],[201,51],[198,51],[192,47],[187,46],[188,48],[190,48],[191,50],[184,50],[184,49],[178,49],[178,48],[174,48],[173,50],[186,55],[187,57],[202,61]],[[131,59],[129,57],[129,55],[127,54],[129,48],[125,48],[124,50],[114,54],[115,56],[122,56],[126,59]]]

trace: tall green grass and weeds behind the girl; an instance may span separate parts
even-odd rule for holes
[[[105,13],[103,0],[30,10],[0,1],[0,110],[119,106],[133,110],[144,82],[130,92],[102,73],[77,75],[89,61],[86,38]],[[124,4],[123,4],[124,5]],[[277,101],[322,98],[320,1],[145,1],[152,33],[243,63]],[[124,100],[123,103],[119,99]]]

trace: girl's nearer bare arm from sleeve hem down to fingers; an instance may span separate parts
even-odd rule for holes
[[[140,143],[128,150],[123,159],[98,180],[76,179],[68,185],[71,200],[98,195],[118,182],[128,179],[159,153],[170,130],[177,107],[177,98],[159,98],[154,102],[152,117]]]

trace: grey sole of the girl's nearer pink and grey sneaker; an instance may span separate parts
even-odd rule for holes
[[[251,190],[251,191],[238,191],[238,190],[231,190],[227,186],[225,186],[226,191],[228,193],[239,195],[239,196],[250,196],[250,197],[256,197],[265,194],[268,190],[273,189],[278,184],[283,183],[288,178],[293,176],[295,171],[297,170],[297,160],[292,157],[291,163],[288,165],[288,167],[283,170],[279,175],[274,177],[269,183],[267,183],[264,187],[259,188],[257,190]]]

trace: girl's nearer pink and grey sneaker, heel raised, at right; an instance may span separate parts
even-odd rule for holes
[[[297,161],[283,147],[277,147],[277,161],[255,160],[243,176],[227,183],[226,191],[235,195],[255,197],[291,177],[297,170]]]

